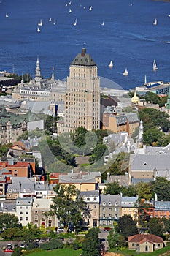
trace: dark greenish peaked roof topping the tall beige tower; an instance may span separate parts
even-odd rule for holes
[[[72,61],[72,65],[77,66],[96,66],[96,63],[91,58],[90,54],[86,53],[86,49],[82,48],[82,53],[78,53]]]

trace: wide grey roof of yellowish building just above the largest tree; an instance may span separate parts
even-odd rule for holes
[[[96,183],[96,177],[101,176],[100,172],[82,173],[68,173],[66,175],[59,175],[59,183]]]

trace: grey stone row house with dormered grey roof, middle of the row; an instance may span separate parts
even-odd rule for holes
[[[101,195],[100,225],[113,226],[113,222],[122,216],[121,195]]]

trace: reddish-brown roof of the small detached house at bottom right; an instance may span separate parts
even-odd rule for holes
[[[137,234],[134,236],[128,236],[128,242],[130,243],[144,243],[144,241],[150,241],[150,243],[163,243],[163,238],[152,234]]]

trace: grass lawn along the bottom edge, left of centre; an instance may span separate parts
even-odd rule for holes
[[[74,249],[54,249],[52,251],[40,251],[29,254],[30,256],[80,256],[81,250]]]

